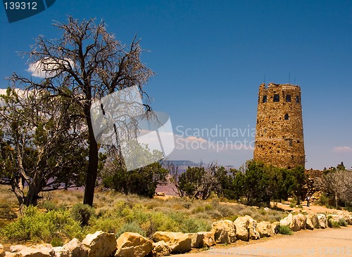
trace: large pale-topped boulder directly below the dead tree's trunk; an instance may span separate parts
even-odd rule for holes
[[[88,249],[88,257],[108,257],[116,249],[116,238],[113,233],[96,231],[88,234],[82,244]]]

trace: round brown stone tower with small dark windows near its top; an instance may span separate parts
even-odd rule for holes
[[[259,86],[254,159],[279,168],[304,167],[299,86],[273,83]]]

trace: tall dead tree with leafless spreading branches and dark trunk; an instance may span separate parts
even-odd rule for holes
[[[91,120],[92,102],[130,86],[138,86],[140,93],[149,99],[142,87],[154,73],[140,60],[143,49],[139,40],[134,37],[130,45],[121,44],[106,31],[103,21],[79,22],[70,17],[67,23],[56,22],[54,27],[61,31],[60,38],[39,36],[32,51],[24,53],[38,71],[44,72],[44,81],[18,74],[13,74],[11,80],[17,86],[48,90],[52,95],[69,98],[80,107],[77,115],[85,120],[89,144],[83,203],[92,206],[99,163],[99,145]],[[144,107],[151,110],[148,104]]]

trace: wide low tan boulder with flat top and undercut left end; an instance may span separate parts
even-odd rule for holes
[[[187,253],[187,251],[191,251],[191,237],[182,232],[157,231],[152,239],[153,242],[164,241],[168,244],[172,253]]]

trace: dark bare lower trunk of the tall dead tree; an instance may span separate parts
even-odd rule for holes
[[[90,109],[86,112],[87,117],[87,125],[89,131],[89,162],[88,162],[88,170],[87,170],[87,177],[84,189],[84,199],[83,204],[88,204],[93,206],[94,200],[94,189],[96,183],[96,176],[98,174],[98,162],[99,162],[99,155],[98,155],[98,144],[94,138],[94,132],[92,127],[92,120],[90,117]]]

